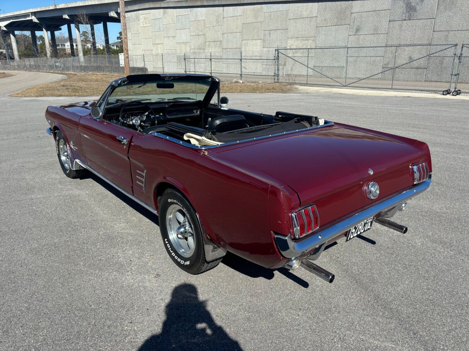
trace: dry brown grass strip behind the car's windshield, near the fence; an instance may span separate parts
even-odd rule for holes
[[[40,84],[27,88],[10,96],[100,96],[111,81],[121,74],[112,73],[62,73],[67,79]],[[234,83],[221,82],[221,93],[291,93],[297,89],[286,83]]]

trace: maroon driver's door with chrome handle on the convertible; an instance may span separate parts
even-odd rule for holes
[[[129,147],[137,132],[91,114],[80,119],[78,131],[88,165],[132,194]]]

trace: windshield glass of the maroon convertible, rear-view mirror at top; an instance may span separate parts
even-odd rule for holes
[[[127,82],[113,90],[107,105],[130,100],[145,102],[203,100],[211,82],[209,80],[166,79]]]

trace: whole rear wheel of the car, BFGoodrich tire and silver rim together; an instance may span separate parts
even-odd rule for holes
[[[205,260],[204,239],[196,212],[176,190],[167,189],[159,200],[159,229],[166,252],[182,270],[199,274],[220,263],[221,259]]]

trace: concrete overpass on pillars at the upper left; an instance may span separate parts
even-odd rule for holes
[[[75,27],[76,45],[80,61],[83,62],[83,46],[80,36],[80,24],[90,25],[91,47],[93,53],[97,53],[94,26],[103,24],[106,53],[110,54],[109,35],[107,22],[120,23],[118,0],[85,0],[79,2],[65,3],[55,6],[44,6],[30,8],[22,11],[15,11],[0,15],[0,33],[5,41],[9,35],[13,49],[13,57],[19,60],[18,48],[16,44],[16,31],[30,31],[35,57],[38,56],[38,42],[36,32],[43,31],[45,39],[45,50],[47,57],[57,56],[57,44],[55,32],[61,30],[63,25],[67,25],[68,40],[72,56],[76,56],[73,38],[72,24]],[[50,35],[49,35],[50,34]],[[49,44],[52,42],[52,48]],[[12,59],[8,45],[6,46],[7,59]]]

